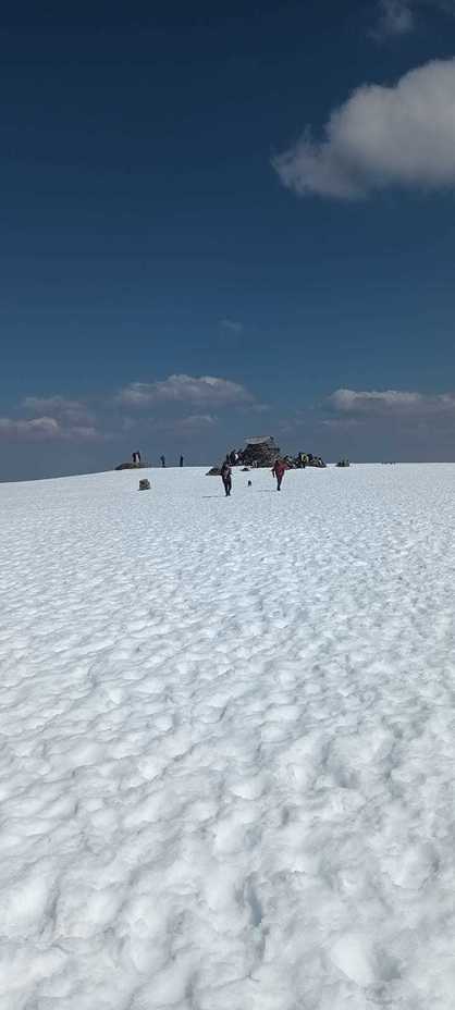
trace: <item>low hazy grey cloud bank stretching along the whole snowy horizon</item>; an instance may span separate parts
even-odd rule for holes
[[[158,384],[165,385],[172,378]],[[198,387],[201,377],[186,378]],[[171,460],[183,452],[190,464],[217,461],[226,447],[243,444],[256,429],[258,402],[239,383],[232,384],[245,389],[246,396],[239,393],[236,402],[229,396],[226,401],[224,383],[230,380],[211,378],[217,379],[213,389],[220,390],[218,404],[207,402],[204,383],[198,402],[161,398],[122,403],[119,393],[108,391],[99,397],[69,398],[67,412],[60,394],[27,397],[12,416],[0,418],[0,479],[21,479],[25,472],[42,478],[111,469],[137,446],[149,460],[157,460],[164,451]],[[145,383],[150,387],[156,384]],[[51,402],[56,416],[40,414],[39,405]],[[33,417],[32,403],[36,403]],[[69,416],[84,407],[93,423],[72,423]],[[304,402],[297,409],[290,404],[283,411],[279,404],[270,404],[267,433],[275,434],[285,452],[317,451],[327,460],[341,455],[357,461],[453,459],[455,392],[340,387],[312,404]]]

